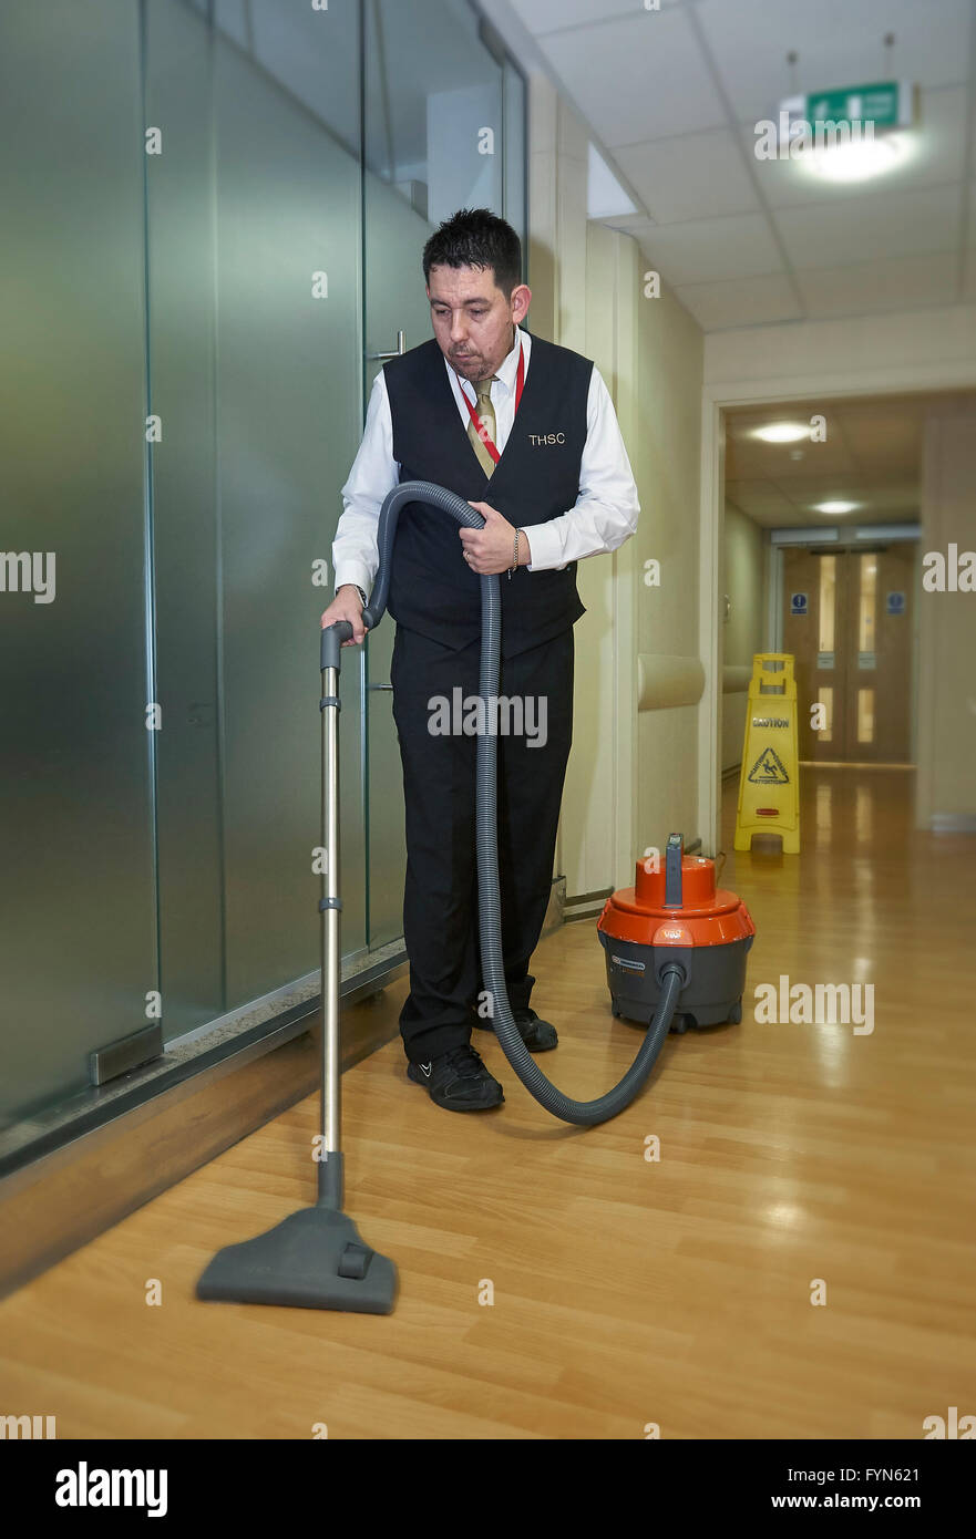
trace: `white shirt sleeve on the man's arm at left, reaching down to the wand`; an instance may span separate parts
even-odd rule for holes
[[[376,539],[380,508],[399,479],[400,466],[393,457],[389,397],[380,369],[369,394],[363,439],[349,479],[342,488],[343,512],[333,540],[333,569],[337,589],[351,582],[369,596],[380,563]]]

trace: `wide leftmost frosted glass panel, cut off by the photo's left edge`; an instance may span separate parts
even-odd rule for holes
[[[157,983],[139,8],[0,20],[0,1117],[88,1083]]]

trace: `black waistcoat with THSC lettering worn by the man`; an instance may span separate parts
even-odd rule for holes
[[[465,431],[437,342],[393,359],[385,376],[400,482],[434,482],[466,502],[488,502],[514,528],[568,512],[579,497],[591,374],[590,359],[533,337],[522,403],[490,479]],[[437,508],[406,503],[389,579],[394,620],[451,648],[477,640],[482,628],[480,579],[462,556],[459,528]],[[502,573],[499,589],[503,657],[551,640],[587,613],[576,591],[576,562],[563,571],[519,566],[511,579]]]

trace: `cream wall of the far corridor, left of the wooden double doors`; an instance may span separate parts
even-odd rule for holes
[[[722,626],[725,673],[753,666],[753,656],[764,651],[765,636],[765,553],[764,531],[737,508],[725,506],[722,594],[731,611]],[[745,706],[748,691],[722,691],[722,771],[742,760]]]

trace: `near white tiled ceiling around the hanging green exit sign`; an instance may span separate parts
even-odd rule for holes
[[[974,0],[483,9],[500,31],[508,14],[531,34],[528,51],[642,209],[603,223],[637,237],[705,331],[976,299]],[[756,159],[756,123],[784,97],[885,78],[919,88],[913,154],[897,169],[837,185]]]

